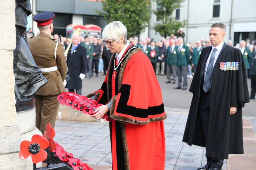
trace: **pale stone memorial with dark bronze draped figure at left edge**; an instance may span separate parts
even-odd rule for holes
[[[20,143],[42,133],[35,126],[35,95],[47,80],[36,66],[28,48],[27,16],[30,1],[4,0],[1,3],[0,87],[0,169],[32,169],[31,157],[19,158]],[[4,97],[5,96],[5,97]],[[41,166],[38,163],[37,166]]]

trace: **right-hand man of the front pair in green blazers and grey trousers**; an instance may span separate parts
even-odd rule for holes
[[[190,52],[188,46],[183,43],[183,38],[178,38],[178,60],[177,60],[177,74],[178,74],[178,86],[174,89],[187,90],[188,78],[187,67],[189,63]],[[181,88],[181,76],[183,77],[183,87]]]

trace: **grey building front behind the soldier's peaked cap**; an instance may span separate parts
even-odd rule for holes
[[[66,35],[66,26],[69,24],[94,24],[103,30],[107,25],[106,20],[97,13],[101,10],[100,0],[30,0],[32,6],[32,16],[39,12],[52,11],[55,13],[53,18],[53,34]],[[33,32],[37,34],[36,22],[31,23]]]

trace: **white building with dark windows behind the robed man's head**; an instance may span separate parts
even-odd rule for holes
[[[156,2],[153,2],[152,8],[156,9],[156,5]],[[247,38],[251,41],[256,39],[255,6],[255,0],[185,0],[180,3],[180,8],[173,12],[173,17],[180,21],[186,20],[186,26],[183,28],[186,42],[193,43],[201,38],[209,38],[210,26],[223,23],[227,26],[224,41],[230,39],[233,45],[236,45]],[[156,18],[152,13],[148,37],[160,41],[161,36],[154,30]]]

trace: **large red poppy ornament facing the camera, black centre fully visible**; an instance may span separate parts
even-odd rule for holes
[[[48,146],[48,140],[36,134],[32,136],[31,142],[27,140],[21,142],[19,157],[20,159],[26,159],[31,155],[33,163],[37,164],[46,159],[47,152],[44,149]]]

